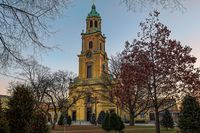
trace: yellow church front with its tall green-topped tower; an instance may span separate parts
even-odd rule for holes
[[[108,70],[106,37],[101,32],[101,17],[94,4],[86,18],[86,31],[81,36],[79,75],[70,84],[73,91],[69,93],[72,99],[81,93],[80,99],[68,112],[73,121],[89,121],[92,114],[97,118],[101,111],[118,112],[117,107],[104,97],[107,92],[102,76]]]

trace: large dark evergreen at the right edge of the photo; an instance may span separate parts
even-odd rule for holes
[[[181,106],[178,126],[181,133],[200,133],[200,106],[194,97],[186,96]]]

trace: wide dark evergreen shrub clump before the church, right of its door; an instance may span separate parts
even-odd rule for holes
[[[116,113],[106,112],[105,119],[102,123],[102,128],[106,131],[119,131],[121,132],[125,126],[121,118]]]

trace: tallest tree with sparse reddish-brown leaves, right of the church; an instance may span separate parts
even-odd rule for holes
[[[128,94],[135,91],[133,85],[148,90],[156,115],[156,133],[160,133],[159,112],[198,89],[200,77],[200,70],[194,67],[196,58],[190,55],[192,49],[169,39],[171,31],[158,16],[157,11],[150,13],[150,17],[140,24],[139,39],[132,44],[127,42],[122,52],[121,86],[117,87],[122,89],[121,95],[127,93],[125,99],[135,97],[134,93]]]

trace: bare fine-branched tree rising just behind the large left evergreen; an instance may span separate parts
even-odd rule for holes
[[[51,85],[50,68],[40,65],[31,57],[26,60],[21,69],[20,75],[31,86],[36,99],[36,106],[39,107],[44,101],[45,92]]]

